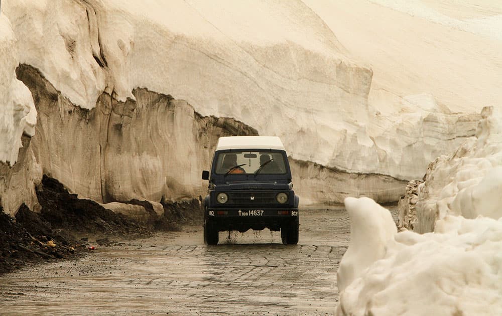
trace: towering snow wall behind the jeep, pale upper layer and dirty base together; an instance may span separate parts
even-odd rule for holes
[[[22,203],[37,209],[43,173],[99,202],[203,194],[200,171],[212,143],[197,138],[197,115],[158,116],[160,105],[148,108],[155,100],[141,99],[141,88],[185,99],[201,117],[231,117],[280,136],[295,160],[295,188],[309,203],[349,195],[395,201],[403,183],[471,137],[478,119],[427,94],[400,99],[392,117],[369,109],[371,69],[302,2],[5,1],[1,10],[0,57],[9,61],[2,101],[11,107],[0,113],[9,135],[0,192],[11,214]],[[39,72],[18,71],[34,104],[14,76],[18,65]],[[30,141],[35,107],[40,135]],[[214,132],[207,141],[223,135]]]

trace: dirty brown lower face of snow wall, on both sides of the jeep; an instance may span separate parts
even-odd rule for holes
[[[206,192],[201,171],[210,164],[217,138],[257,135],[232,118],[202,116],[186,101],[135,89],[136,101],[103,93],[91,109],[61,95],[28,65],[17,69],[38,112],[36,132],[24,137],[18,162],[4,170],[3,206],[15,214],[22,203],[39,209],[35,186],[42,174],[70,192],[101,203],[132,199],[160,202]],[[393,201],[403,182],[385,175],[358,175],[291,159],[295,190],[307,203],[340,202],[348,195]],[[6,167],[7,168],[7,167]],[[388,186],[391,190],[375,191]]]

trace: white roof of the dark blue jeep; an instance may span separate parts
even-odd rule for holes
[[[216,150],[224,149],[284,149],[281,138],[277,136],[229,136],[220,137]]]

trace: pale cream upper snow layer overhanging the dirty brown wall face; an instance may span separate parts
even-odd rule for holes
[[[358,121],[367,119],[371,70],[347,58],[301,1],[44,0],[2,7],[23,39],[20,63],[82,109],[95,108],[102,93],[126,102],[134,89],[148,88],[185,99],[202,115],[281,136],[294,156],[324,165],[333,134],[355,138]]]

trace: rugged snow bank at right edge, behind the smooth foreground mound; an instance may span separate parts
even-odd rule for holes
[[[502,112],[484,107],[481,117],[476,136],[439,156],[429,165],[425,181],[400,201],[402,227],[425,233],[447,215],[502,216]]]

